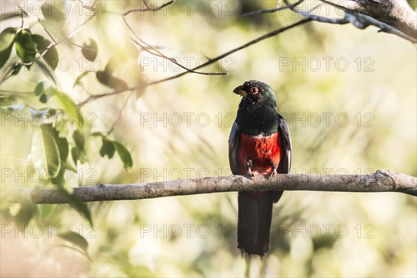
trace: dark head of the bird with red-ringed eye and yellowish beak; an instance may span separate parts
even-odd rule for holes
[[[233,92],[241,95],[243,97],[242,102],[245,104],[263,104],[277,107],[274,91],[261,81],[246,81],[243,85],[236,87]]]

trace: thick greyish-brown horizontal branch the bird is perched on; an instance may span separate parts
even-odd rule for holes
[[[417,196],[417,178],[388,170],[374,174],[325,175],[277,174],[276,177],[247,176],[207,177],[177,181],[100,184],[74,188],[74,196],[83,202],[149,199],[253,190],[313,190],[336,192],[398,192]],[[35,204],[63,204],[54,189],[13,188],[3,195],[3,202],[30,201]]]

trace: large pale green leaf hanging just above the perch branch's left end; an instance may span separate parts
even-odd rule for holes
[[[60,152],[51,124],[42,124],[33,133],[32,159],[33,167],[44,172],[43,177],[53,179],[61,167]]]

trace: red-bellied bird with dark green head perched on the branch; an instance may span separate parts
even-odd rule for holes
[[[277,112],[275,92],[256,80],[246,81],[233,92],[242,96],[229,136],[232,174],[287,174],[291,168],[291,137]],[[238,193],[238,248],[261,259],[269,251],[272,204],[283,191],[256,190]]]

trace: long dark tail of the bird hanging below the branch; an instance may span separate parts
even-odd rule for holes
[[[243,253],[263,256],[269,251],[275,195],[273,191],[238,193],[238,248]]]

